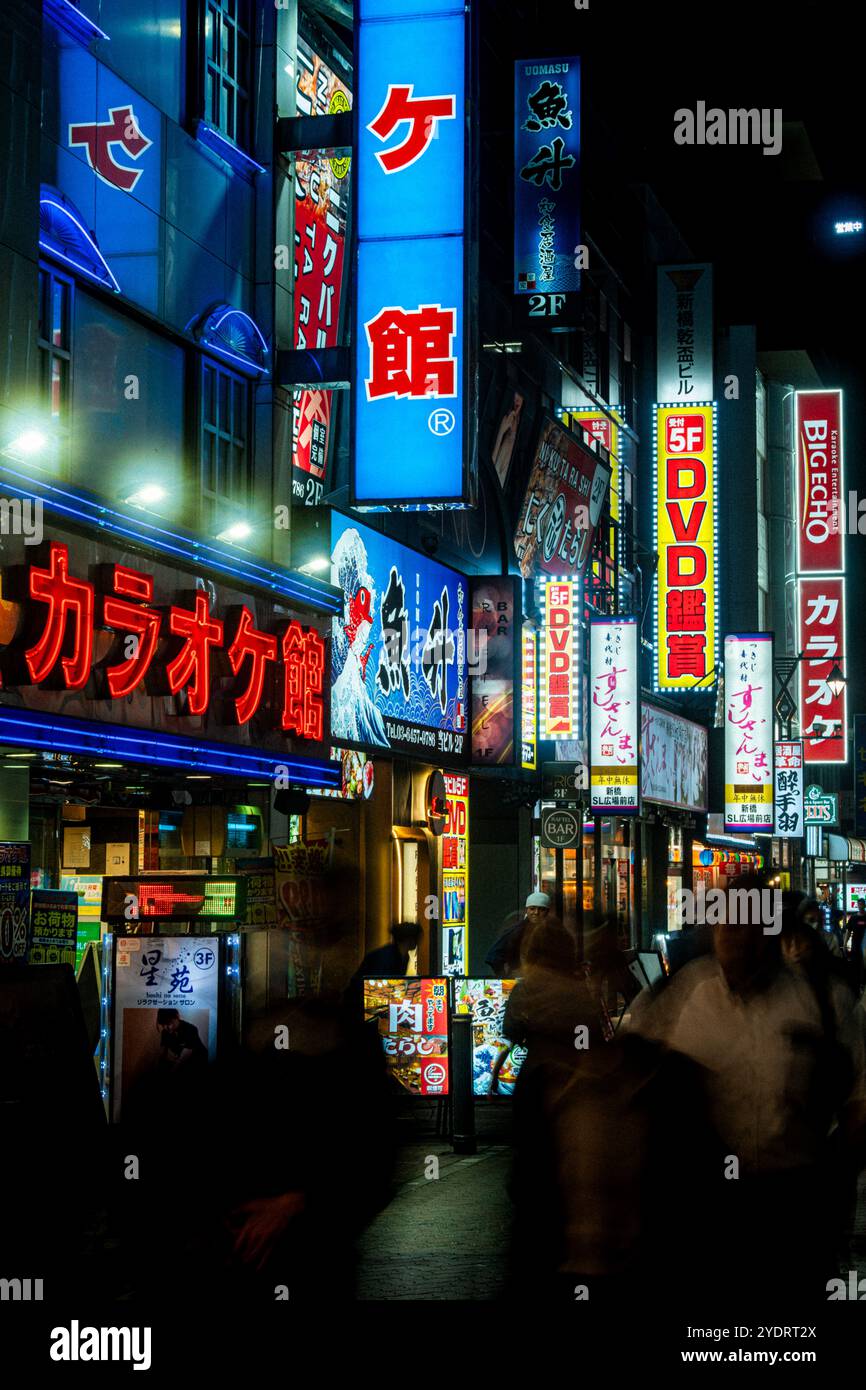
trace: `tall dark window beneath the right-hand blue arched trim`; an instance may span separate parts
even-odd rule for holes
[[[210,524],[228,502],[243,505],[249,493],[249,384],[210,359],[202,361],[202,496]]]

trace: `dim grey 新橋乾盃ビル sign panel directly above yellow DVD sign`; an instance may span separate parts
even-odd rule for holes
[[[713,396],[713,267],[659,265],[656,400]]]

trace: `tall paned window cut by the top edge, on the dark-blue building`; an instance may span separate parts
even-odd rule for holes
[[[204,118],[240,149],[249,143],[249,0],[204,0]]]

